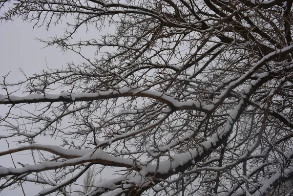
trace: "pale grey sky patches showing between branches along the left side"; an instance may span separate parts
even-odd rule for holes
[[[27,76],[32,73],[38,73],[42,69],[58,68],[66,66],[68,62],[78,62],[79,58],[73,52],[63,53],[59,48],[54,46],[45,47],[36,38],[46,39],[48,37],[56,37],[58,33],[62,33],[64,25],[52,27],[46,31],[43,27],[33,29],[33,23],[23,22],[20,19],[9,22],[0,23],[0,77],[3,80],[3,75],[9,73],[7,81],[13,83],[24,79],[20,68]],[[16,92],[16,95],[21,95],[21,89]],[[0,89],[0,94],[6,94],[3,89]],[[0,105],[0,116],[5,114],[7,107]],[[3,133],[3,128],[0,128],[0,134]],[[8,139],[10,148],[16,147],[16,142],[13,139]],[[54,138],[44,140],[43,143],[52,144]],[[56,144],[58,138],[56,138]],[[7,150],[7,143],[5,140],[0,140],[0,151]],[[22,155],[21,155],[22,154]],[[25,153],[13,154],[15,162],[25,162],[27,157]],[[6,155],[0,157],[0,165],[14,167],[11,157]],[[34,196],[41,186],[23,185],[26,196]],[[6,190],[0,193],[0,196],[21,196],[23,195],[21,189]]]

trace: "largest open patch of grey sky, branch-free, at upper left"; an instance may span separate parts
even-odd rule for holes
[[[15,20],[0,24],[0,75],[11,71],[9,81],[18,81],[23,78],[19,71],[21,67],[25,73],[35,73],[46,69],[46,64],[51,68],[66,65],[70,55],[63,54],[60,49],[44,47],[43,43],[36,41],[38,38],[55,37],[62,28],[35,28],[33,24]],[[41,49],[42,48],[42,49]],[[70,60],[72,61],[72,59]],[[12,77],[13,76],[13,77]]]

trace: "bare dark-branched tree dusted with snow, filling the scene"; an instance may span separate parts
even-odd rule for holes
[[[91,165],[121,176],[88,196],[263,196],[293,178],[293,0],[0,3],[2,21],[65,21],[63,36],[42,41],[84,59],[17,84],[3,77],[1,138],[21,145],[0,155],[42,153],[1,167],[1,189],[34,182],[49,187],[38,196],[69,196]],[[34,143],[44,135],[73,141]]]

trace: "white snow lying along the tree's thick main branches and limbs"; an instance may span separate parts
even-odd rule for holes
[[[292,46],[289,46],[288,48],[292,49]],[[284,51],[284,50],[279,50],[278,52],[281,52],[281,51]],[[148,97],[148,98],[156,99],[160,102],[165,103],[165,105],[164,105],[165,108],[161,109],[161,111],[163,113],[171,112],[171,109],[166,107],[167,105],[172,105],[178,109],[195,109],[195,110],[208,112],[208,111],[212,111],[215,108],[216,104],[221,103],[221,101],[223,101],[223,99],[225,99],[225,96],[229,94],[229,92],[231,91],[232,88],[237,87],[239,84],[241,84],[241,81],[246,80],[250,75],[254,74],[253,73],[254,69],[256,69],[257,66],[261,65],[263,62],[270,59],[274,54],[277,54],[277,52],[270,53],[269,55],[264,57],[262,60],[260,60],[259,63],[256,64],[253,68],[251,68],[251,70],[246,75],[240,76],[234,82],[230,82],[230,85],[227,87],[227,89],[225,91],[222,92],[222,94],[220,96],[217,97],[217,100],[214,102],[214,104],[210,104],[210,105],[205,104],[205,103],[201,102],[200,100],[196,100],[196,99],[190,100],[190,101],[178,101],[172,95],[168,95],[166,93],[162,93],[162,92],[158,92],[158,91],[151,91],[151,90],[146,90],[143,88],[137,88],[137,87],[118,88],[118,89],[114,89],[114,90],[97,91],[95,93],[82,93],[82,94],[81,93],[79,94],[79,93],[63,92],[60,94],[47,94],[47,93],[45,93],[45,94],[30,94],[30,95],[26,95],[23,97],[18,97],[18,96],[14,96],[14,95],[10,95],[10,96],[0,95],[0,104],[5,104],[8,102],[11,104],[11,102],[13,103],[13,102],[17,102],[17,101],[20,101],[20,102],[22,101],[22,103],[24,103],[27,100],[36,100],[36,101],[44,100],[44,101],[48,101],[48,102],[59,101],[59,100],[63,101],[63,99],[61,99],[61,98],[68,98],[69,100],[72,100],[72,101],[81,101],[81,100],[87,100],[88,98],[93,98],[95,100],[98,100],[98,99],[107,99],[107,98],[114,98],[114,97],[120,97],[120,96],[141,96],[141,97]],[[272,69],[272,71],[277,72],[277,71],[280,71],[280,69],[276,68],[276,69]],[[251,88],[253,86],[257,85],[257,83],[259,81],[261,81],[262,78],[267,77],[268,74],[269,74],[268,72],[265,72],[262,74],[255,74],[255,76],[258,78],[256,80],[252,81],[251,85],[248,88],[246,88],[244,91],[246,93],[249,93]],[[271,94],[272,94],[272,92],[271,92]],[[243,100],[240,101],[238,106],[230,112],[224,128],[215,132],[214,134],[212,134],[210,136],[210,138],[208,138],[208,141],[202,142],[198,146],[198,148],[190,150],[189,152],[182,153],[180,155],[170,156],[169,160],[160,161],[159,164],[147,164],[146,165],[146,163],[138,163],[139,167],[141,167],[142,170],[138,174],[136,173],[134,175],[127,175],[128,178],[124,179],[123,183],[125,183],[125,184],[123,185],[123,187],[128,188],[128,187],[130,187],[131,183],[135,183],[135,184],[144,183],[145,182],[144,177],[148,173],[158,172],[160,174],[166,174],[167,172],[170,172],[170,171],[176,172],[176,169],[178,167],[184,166],[185,164],[194,160],[196,157],[201,156],[203,153],[207,152],[208,149],[215,148],[216,144],[219,143],[219,141],[223,137],[230,134],[230,131],[233,127],[235,119],[237,118],[239,111],[240,111],[241,107],[243,106],[243,104],[244,104]],[[259,107],[265,109],[265,105],[260,105]],[[274,112],[273,109],[271,109],[270,111]],[[120,114],[123,114],[123,113],[130,113],[130,111],[123,111]],[[118,116],[120,114],[117,114],[116,116]],[[280,116],[281,115],[282,114],[280,114]],[[114,141],[118,141],[120,139],[133,136],[133,135],[138,134],[140,132],[146,131],[147,129],[150,129],[153,126],[159,125],[162,121],[165,120],[165,117],[166,116],[162,117],[158,121],[154,122],[153,124],[149,125],[148,127],[143,128],[141,130],[132,131],[132,132],[129,132],[129,133],[126,133],[123,135],[117,135],[117,136],[114,136],[112,139],[105,140],[105,141],[96,140],[96,142],[98,143],[98,145],[111,144]],[[290,123],[292,124],[292,122],[290,122]],[[135,123],[133,123],[133,122],[128,122],[128,124],[127,124],[127,126],[134,126],[134,125],[135,125]],[[92,129],[95,129],[94,125],[91,122],[89,123],[89,126]],[[169,151],[170,149],[174,148],[179,143],[191,138],[192,134],[193,133],[190,133],[190,134],[185,135],[184,137],[177,138],[166,146],[158,147],[158,150],[161,152]],[[251,147],[248,148],[248,152],[252,151],[255,148],[255,144],[253,144]],[[30,146],[19,147],[17,149],[13,149],[10,152],[12,152],[12,151],[19,152],[19,151],[24,151],[24,150],[29,150],[29,149],[52,152],[57,155],[61,155],[63,157],[66,157],[66,156],[72,156],[72,157],[70,160],[66,160],[63,162],[43,162],[43,163],[37,164],[37,165],[25,165],[23,168],[3,168],[3,167],[0,167],[0,175],[23,174],[23,173],[32,172],[32,171],[38,172],[41,170],[50,170],[50,169],[64,167],[64,165],[66,165],[66,166],[67,165],[76,165],[78,163],[85,163],[85,162],[89,162],[89,161],[93,161],[93,160],[96,163],[100,163],[100,164],[103,164],[103,161],[106,161],[107,164],[109,164],[109,165],[111,165],[111,164],[112,165],[124,164],[129,167],[137,164],[137,163],[134,164],[133,160],[131,160],[131,159],[111,156],[110,154],[102,151],[101,149],[74,150],[74,149],[63,149],[61,147],[52,146],[52,145],[33,144]],[[148,152],[151,152],[151,150],[149,150]],[[244,153],[243,156],[240,156],[239,160],[242,158],[245,158],[247,156],[248,152]],[[3,153],[3,152],[0,152],[0,153]],[[153,154],[156,155],[155,153],[153,153]],[[237,160],[237,161],[239,161],[239,160]],[[224,165],[222,167],[213,167],[213,168],[203,167],[203,168],[201,168],[201,170],[222,170],[222,169],[225,169],[226,167],[232,166],[234,163],[237,163],[237,161],[235,161],[231,164]],[[282,176],[284,174],[289,175],[292,173],[291,170],[285,170],[285,173],[282,173],[282,174],[278,173],[277,171],[275,171],[275,172],[276,172],[276,174],[273,175],[270,179],[262,182],[263,186],[261,187],[260,192],[256,192],[254,194],[255,196],[258,193],[259,194],[265,193],[268,189],[271,188],[272,184],[280,178],[280,176]],[[247,176],[242,176],[242,178],[243,178],[243,180],[249,179],[249,178],[247,178]],[[101,187],[108,188],[108,189],[114,189],[112,191],[109,191],[105,195],[111,195],[115,192],[121,193],[121,188],[117,188],[117,186],[115,185],[115,181],[110,181],[110,182],[107,181],[107,184],[104,184],[103,186],[101,184]],[[39,194],[42,195],[45,192],[50,192],[50,191],[54,190],[55,188],[51,187],[49,189],[44,189]],[[249,190],[245,190],[245,191],[247,192],[247,195],[250,195]]]

